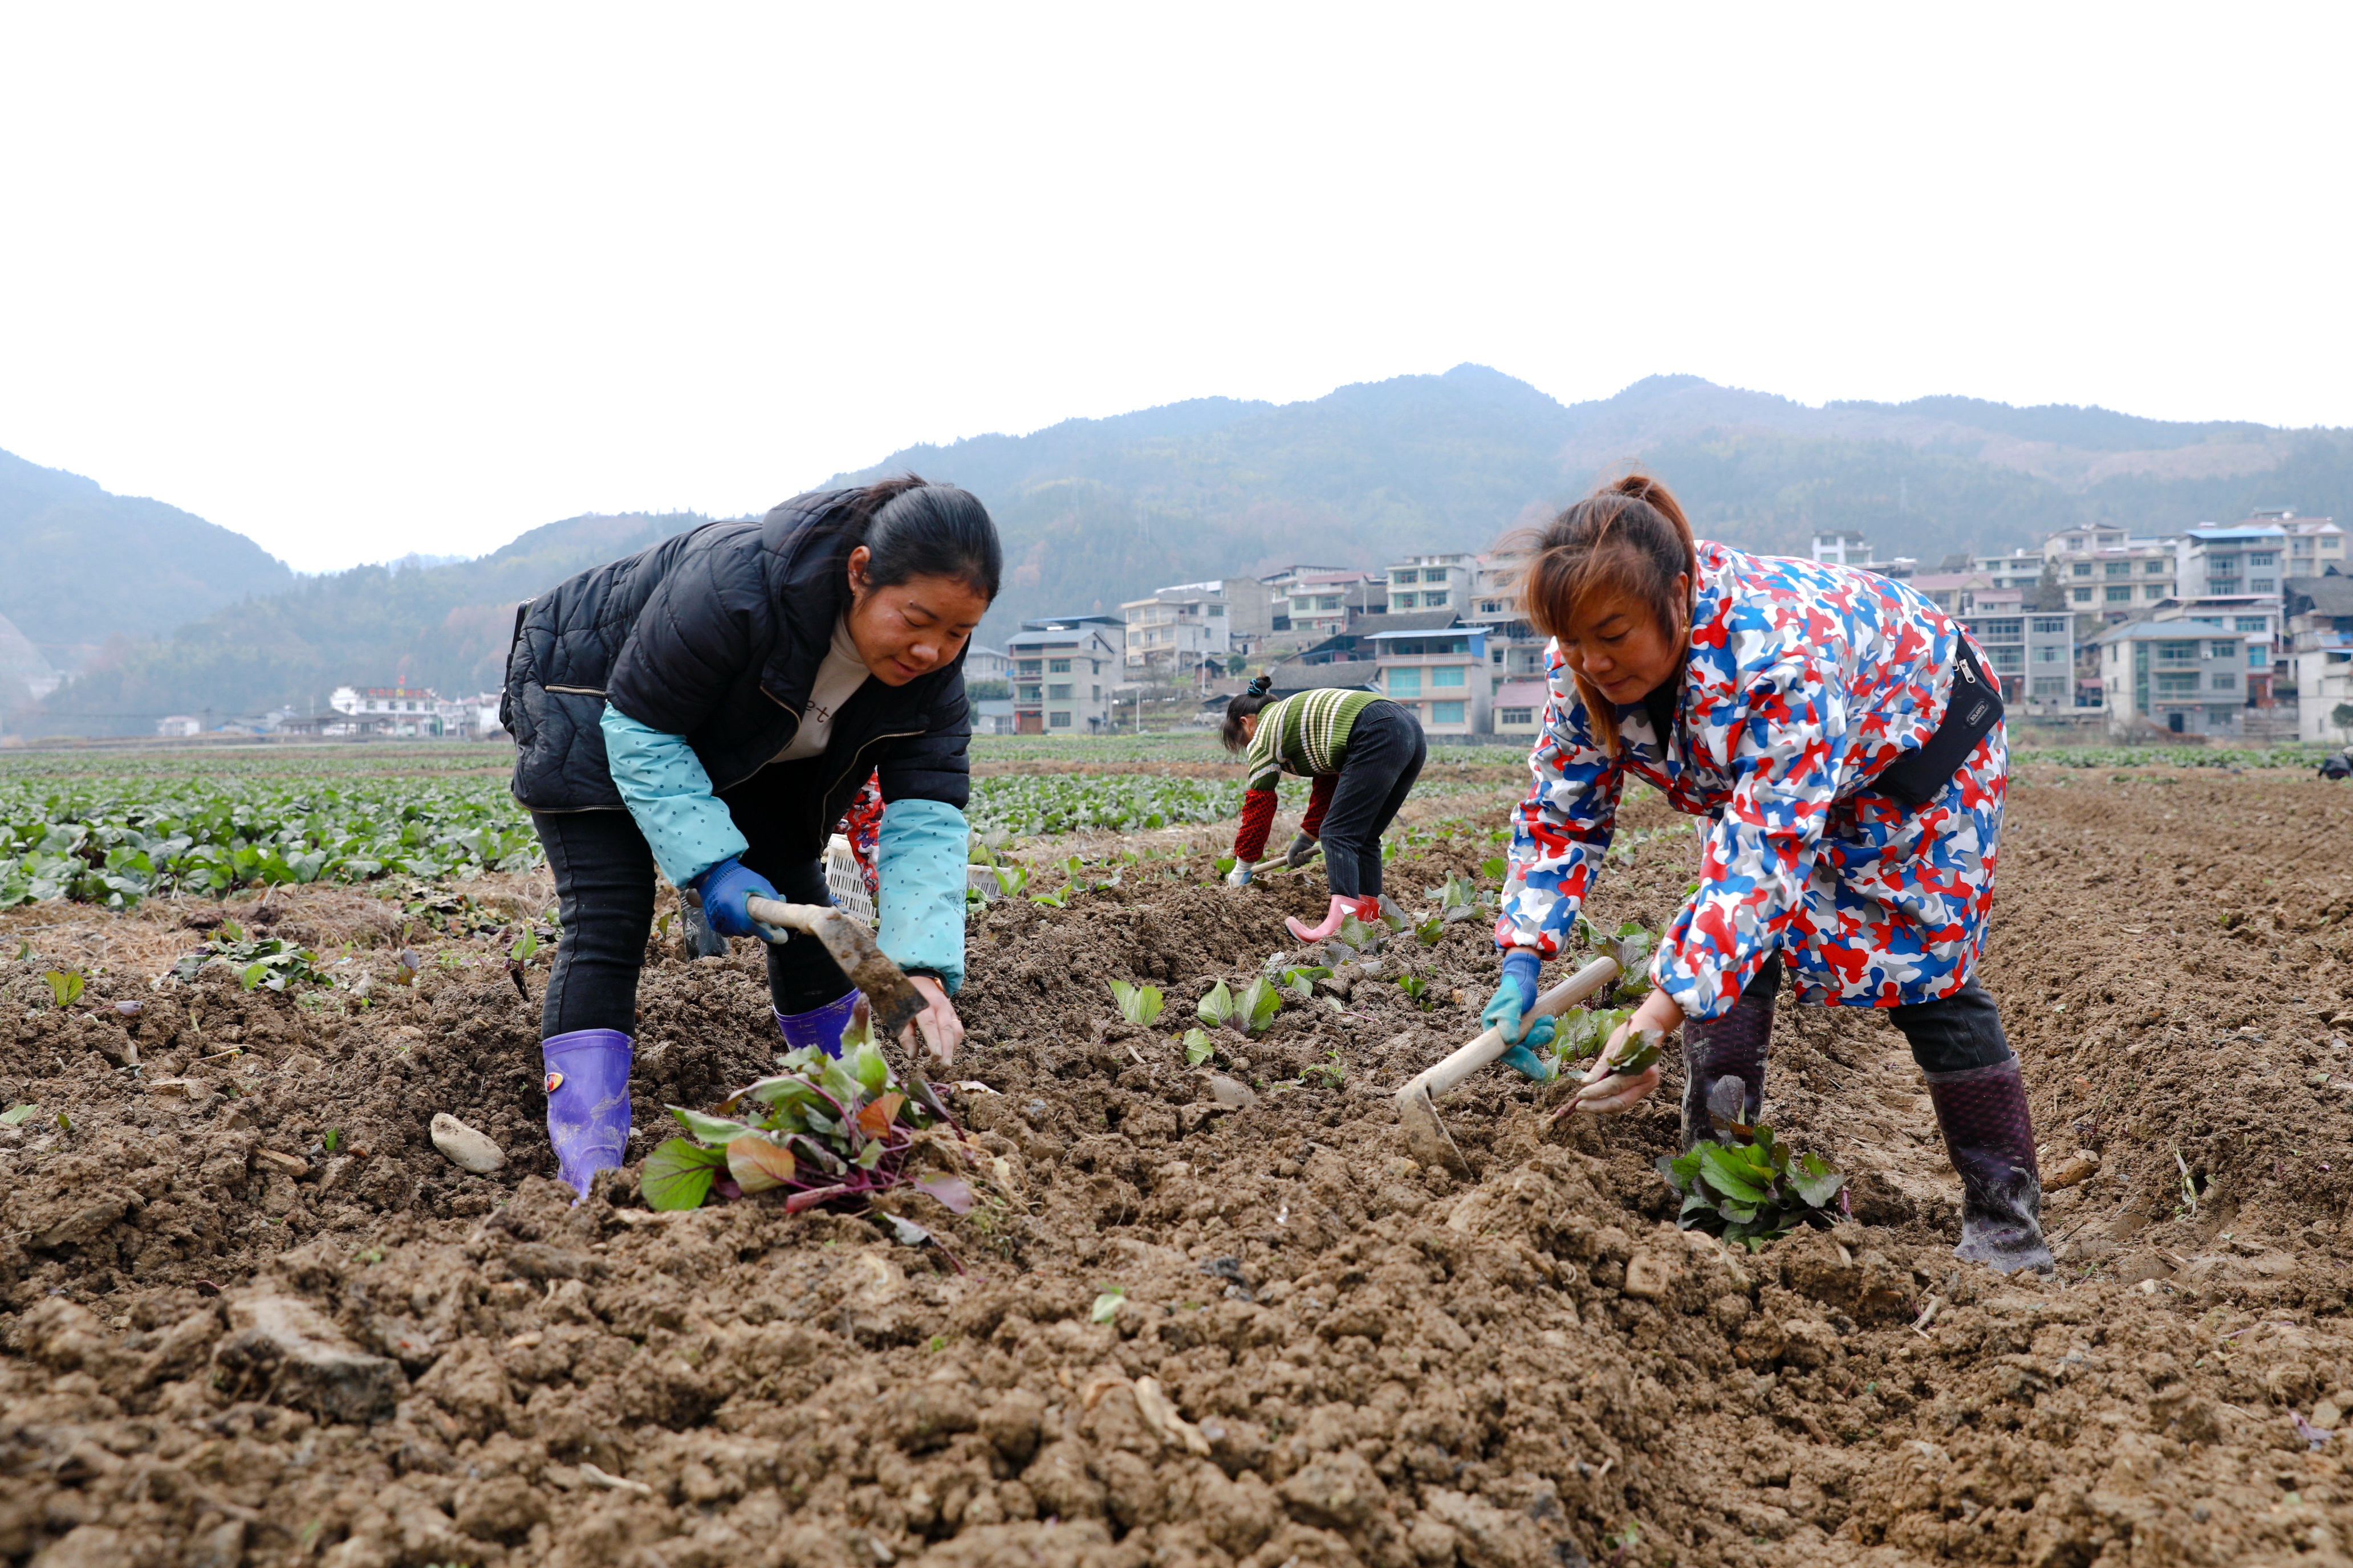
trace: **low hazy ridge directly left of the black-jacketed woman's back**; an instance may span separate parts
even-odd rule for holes
[[[414,682],[459,696],[506,679],[515,604],[574,571],[689,529],[694,515],[569,517],[449,567],[353,567],[191,621],[160,642],[113,644],[9,729],[136,736],[186,712],[224,722],[325,710],[341,684]]]

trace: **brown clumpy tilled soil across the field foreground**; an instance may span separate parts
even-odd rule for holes
[[[1482,922],[1188,1067],[1193,999],[1322,905],[1313,875],[1202,886],[1205,853],[976,922],[955,1072],[986,1088],[955,1100],[1009,1197],[911,1208],[946,1248],[760,1199],[656,1215],[626,1171],[572,1208],[489,945],[409,985],[365,950],[348,1011],[155,983],[120,954],[174,914],[139,912],[71,1009],[54,959],[0,964],[0,1095],[38,1107],[0,1128],[0,1556],[2341,1561],[2344,802],[2014,780],[1984,978],[2071,1182],[2047,1281],[1951,1258],[1958,1182],[1871,1013],[1781,1016],[1767,1117],[1854,1220],[1760,1255],[1668,1225],[1675,1074],[1560,1128],[1560,1088],[1480,1074],[1445,1103],[1473,1180],[1405,1159],[1388,1093],[1478,1030]],[[1391,891],[1426,903],[1494,820]],[[1654,799],[1624,825],[1593,912],[1659,924],[1692,839]],[[640,1154],[774,1051],[751,952],[652,957]],[[1118,1023],[1111,978],[1165,987],[1160,1023]],[[506,1168],[442,1159],[442,1110]]]

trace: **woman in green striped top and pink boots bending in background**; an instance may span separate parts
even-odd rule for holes
[[[1325,846],[1332,907],[1320,926],[1285,919],[1301,943],[1320,943],[1348,914],[1381,917],[1381,830],[1388,827],[1421,776],[1428,745],[1421,724],[1405,708],[1372,691],[1318,689],[1273,696],[1273,677],[1249,682],[1226,703],[1228,752],[1247,748],[1249,792],[1242,795],[1242,827],[1233,837],[1233,886],[1247,886],[1266,853],[1275,825],[1275,783],[1282,773],[1313,778],[1308,813],[1285,856],[1301,865],[1315,839]]]

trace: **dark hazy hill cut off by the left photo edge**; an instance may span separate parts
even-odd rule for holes
[[[59,670],[292,581],[242,534],[0,451],[0,616]]]

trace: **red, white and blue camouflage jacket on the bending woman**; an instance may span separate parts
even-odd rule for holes
[[[1918,809],[1871,778],[1937,731],[1962,635],[1871,571],[1701,543],[1671,736],[1652,733],[1640,705],[1619,708],[1621,755],[1605,752],[1560,646],[1548,651],[1551,701],[1497,943],[1562,952],[1633,773],[1678,811],[1715,818],[1699,891],[1652,964],[1687,1018],[1729,1011],[1774,950],[1805,1001],[1953,994],[1993,907],[2002,726]]]

